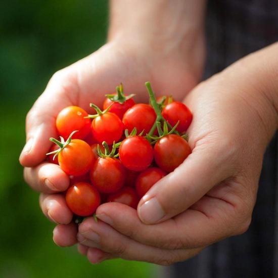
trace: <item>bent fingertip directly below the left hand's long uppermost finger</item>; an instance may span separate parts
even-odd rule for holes
[[[69,177],[53,163],[42,163],[34,168],[24,168],[24,179],[29,186],[39,192],[57,193],[68,189]]]

